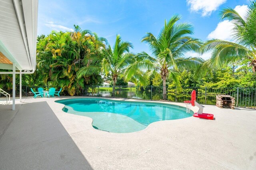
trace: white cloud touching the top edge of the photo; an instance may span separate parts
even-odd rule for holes
[[[227,0],[186,0],[192,12],[201,12],[202,16],[209,16]]]

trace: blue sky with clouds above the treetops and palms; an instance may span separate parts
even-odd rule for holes
[[[151,32],[158,35],[174,14],[182,15],[180,22],[194,25],[194,37],[203,41],[211,38],[231,40],[232,24],[221,21],[219,10],[231,7],[246,11],[248,0],[39,0],[38,35],[52,30],[70,31],[73,25],[90,29],[114,44],[116,34],[134,45],[132,51],[149,52],[141,43]],[[207,56],[204,58],[208,58]]]

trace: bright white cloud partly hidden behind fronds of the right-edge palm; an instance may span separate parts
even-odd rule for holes
[[[234,8],[238,14],[245,19],[246,12],[248,10],[247,5],[238,5]],[[231,21],[224,20],[218,23],[217,27],[212,31],[207,38],[208,39],[222,39],[226,41],[232,40],[232,29],[234,28],[234,24]]]

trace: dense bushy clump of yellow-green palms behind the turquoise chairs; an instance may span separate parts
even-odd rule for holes
[[[103,43],[104,41],[104,43]],[[77,77],[80,68],[102,61],[99,52],[105,47],[106,39],[90,30],[74,25],[72,32],[52,31],[47,37],[38,39],[38,70],[46,84],[59,86],[71,96],[80,94],[85,84],[100,80],[98,74]]]

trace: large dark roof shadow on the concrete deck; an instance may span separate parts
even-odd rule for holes
[[[47,102],[0,107],[0,169],[92,167]]]

